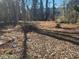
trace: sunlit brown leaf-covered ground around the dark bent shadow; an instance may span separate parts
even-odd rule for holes
[[[39,22],[36,25],[41,29],[62,32],[79,32],[79,25],[62,24],[62,28],[55,28],[56,23]],[[64,29],[65,28],[65,29]],[[23,51],[24,34],[21,27],[4,29],[0,31],[0,59],[20,59]],[[26,59],[79,59],[79,46],[68,41],[56,39],[43,34],[27,33]]]

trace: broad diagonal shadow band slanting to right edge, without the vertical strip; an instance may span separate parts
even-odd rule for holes
[[[33,26],[33,25],[27,25],[27,26],[25,26],[25,28],[28,29],[28,32],[36,32],[36,33],[39,33],[39,34],[42,34],[42,35],[54,37],[54,38],[56,38],[58,40],[63,40],[63,41],[73,43],[75,45],[79,45],[79,40],[76,37],[64,36],[64,35],[61,35],[59,33],[55,33],[55,32],[50,31],[50,30],[39,29],[38,27]],[[70,39],[70,38],[72,38],[72,39]]]

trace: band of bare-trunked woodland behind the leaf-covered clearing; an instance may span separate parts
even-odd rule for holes
[[[50,5],[52,7],[50,7]],[[79,19],[79,1],[63,0],[56,7],[55,0],[2,0],[0,2],[0,20],[5,22],[52,21],[77,23]]]

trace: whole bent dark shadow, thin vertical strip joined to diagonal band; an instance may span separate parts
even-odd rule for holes
[[[70,39],[67,36],[61,35],[59,33],[55,33],[55,32],[50,31],[50,30],[39,29],[38,27],[33,26],[33,25],[25,25],[24,27],[22,27],[22,29],[24,32],[24,41],[23,41],[23,48],[24,49],[23,49],[21,59],[26,59],[26,57],[27,57],[27,44],[26,44],[26,42],[27,42],[27,33],[28,32],[35,32],[35,33],[46,35],[49,37],[54,37],[58,40],[67,41],[67,42],[70,42],[72,44],[79,45],[79,40],[78,39],[76,40],[75,37],[70,37],[70,38],[73,38],[73,39]]]

